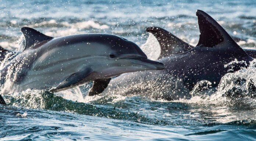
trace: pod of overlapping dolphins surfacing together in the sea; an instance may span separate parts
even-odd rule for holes
[[[239,47],[211,16],[201,10],[196,16],[200,37],[195,47],[166,30],[147,29],[160,43],[158,61],[165,68],[146,59],[136,44],[118,36],[78,34],[53,38],[23,27],[25,50],[1,70],[1,84],[11,80],[18,91],[34,88],[58,92],[94,81],[90,96],[109,87],[125,89],[125,93],[153,92],[155,98],[167,100],[189,98],[188,93],[173,89],[181,83],[191,91],[202,80],[216,87],[221,77],[247,67],[255,57],[254,51]]]

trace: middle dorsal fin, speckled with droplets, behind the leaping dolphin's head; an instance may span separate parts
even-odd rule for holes
[[[160,44],[161,54],[159,59],[186,52],[193,48],[188,43],[160,27],[148,27],[146,31],[152,33]]]

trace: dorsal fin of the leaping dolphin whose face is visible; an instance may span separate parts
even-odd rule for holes
[[[45,34],[29,27],[22,27],[21,32],[25,37],[25,49],[28,49],[29,47],[38,42],[42,42],[53,38],[50,36],[46,36]]]

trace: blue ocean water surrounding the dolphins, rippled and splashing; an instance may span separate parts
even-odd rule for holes
[[[136,42],[156,59],[160,46],[146,27],[162,27],[196,45],[195,13],[200,9],[241,47],[253,49],[255,7],[254,0],[0,0],[0,45],[18,51],[23,26],[53,37],[110,33]],[[225,75],[211,95],[210,90],[192,92],[190,100],[122,96],[118,89],[113,95],[89,97],[91,83],[56,94],[26,90],[4,95],[7,106],[0,105],[0,141],[253,141],[256,99],[226,95],[256,94],[248,91],[249,82],[256,82],[255,66],[254,60],[250,67]]]

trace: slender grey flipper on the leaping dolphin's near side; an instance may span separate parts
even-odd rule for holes
[[[74,85],[77,82],[81,81],[83,78],[87,77],[93,72],[92,68],[86,67],[77,73],[70,75],[65,81],[61,82],[56,88],[51,89],[50,92],[56,92],[57,89],[66,88],[68,86]]]

